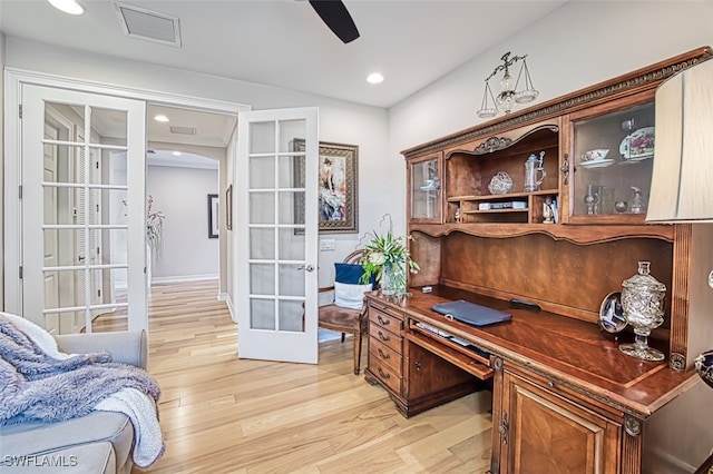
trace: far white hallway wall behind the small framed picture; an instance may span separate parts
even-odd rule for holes
[[[208,194],[218,194],[216,169],[148,166],[146,194],[163,211],[163,258],[152,282],[218,277],[217,238],[208,238]]]

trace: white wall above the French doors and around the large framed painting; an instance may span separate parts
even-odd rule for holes
[[[377,227],[383,213],[403,223],[403,160],[388,151],[387,111],[321,96],[183,71],[7,38],[7,66],[145,90],[246,103],[253,109],[319,107],[320,139],[359,145],[359,230]],[[395,178],[394,178],[395,177]],[[394,179],[398,180],[394,186]],[[320,254],[320,283],[332,279],[332,263],[354,250],[358,234],[331,235],[334,251]]]

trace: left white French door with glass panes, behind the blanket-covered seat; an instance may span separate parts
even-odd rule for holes
[[[80,326],[91,332],[94,315],[115,310],[128,315],[129,329],[147,328],[145,102],[32,85],[22,85],[21,102],[22,314],[41,326],[59,320],[60,328],[76,327],[62,320],[81,314]],[[46,136],[50,110],[76,131],[67,138]],[[67,157],[75,172],[50,172],[48,154]],[[123,181],[102,172],[111,168],[106,166],[111,159],[126,161]],[[126,220],[102,211],[123,200]],[[68,201],[74,203],[69,210]],[[117,257],[104,251],[111,240],[125,241],[126,253]],[[76,258],[48,260],[47,250],[57,243],[79,243]],[[118,303],[104,298],[108,292],[101,290],[114,273],[128,282]],[[71,302],[55,298],[51,286],[66,294],[64,282],[71,282]],[[80,282],[84,295],[75,290]]]

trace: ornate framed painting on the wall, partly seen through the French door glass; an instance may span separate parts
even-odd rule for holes
[[[304,140],[292,140],[294,151],[304,151]],[[304,160],[304,157],[299,157]],[[295,186],[303,187],[304,166],[294,168]],[[319,158],[320,234],[359,233],[359,146],[320,141]],[[304,199],[304,197],[302,197]],[[304,223],[304,203],[295,200],[295,223]]]

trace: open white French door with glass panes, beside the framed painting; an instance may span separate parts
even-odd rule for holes
[[[238,116],[237,354],[318,362],[316,108]]]

